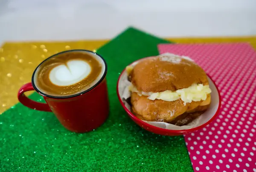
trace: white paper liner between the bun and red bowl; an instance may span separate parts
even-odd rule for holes
[[[171,54],[165,54],[165,55],[171,55]],[[138,61],[131,64],[131,66],[135,66],[138,63]],[[193,120],[191,123],[183,126],[176,126],[173,124],[169,124],[166,122],[153,122],[153,121],[144,121],[148,124],[151,124],[155,127],[163,128],[163,129],[169,129],[169,130],[186,130],[194,127],[198,127],[207,121],[209,121],[212,116],[215,115],[215,113],[218,110],[218,104],[219,102],[219,96],[218,96],[218,90],[213,84],[212,80],[207,76],[209,81],[209,87],[212,90],[211,93],[211,104],[206,112],[204,112],[201,116]],[[129,91],[129,85],[131,85],[131,82],[128,81],[128,74],[127,72],[123,72],[119,79],[119,85],[118,85],[118,92],[119,96],[122,99],[122,102],[125,104],[125,107],[127,107],[128,110],[131,111],[131,106],[126,101],[129,97],[131,97],[131,92]]]

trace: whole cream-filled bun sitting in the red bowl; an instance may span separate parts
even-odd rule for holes
[[[126,69],[131,81],[131,108],[142,120],[182,126],[209,107],[207,75],[187,57],[160,55]]]

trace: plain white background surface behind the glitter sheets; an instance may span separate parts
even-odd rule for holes
[[[0,0],[0,44],[109,39],[130,25],[160,37],[256,35],[256,0]]]

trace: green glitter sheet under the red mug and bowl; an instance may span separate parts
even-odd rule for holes
[[[0,115],[0,171],[192,172],[183,137],[143,130],[126,115],[116,96],[116,82],[126,65],[157,55],[157,44],[166,42],[128,28],[97,51],[108,63],[111,110],[105,124],[93,132],[71,133],[53,113],[22,104]],[[41,100],[37,93],[30,98]]]

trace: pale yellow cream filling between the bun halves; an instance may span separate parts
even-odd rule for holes
[[[201,100],[206,100],[207,94],[212,92],[209,85],[203,84],[193,84],[188,88],[183,88],[176,91],[166,90],[157,93],[138,91],[134,85],[130,85],[129,90],[131,92],[136,92],[139,96],[148,96],[148,99],[150,100],[160,99],[163,101],[172,102],[181,99],[184,102],[184,105],[186,105],[186,103],[191,103],[192,101],[198,102]]]

